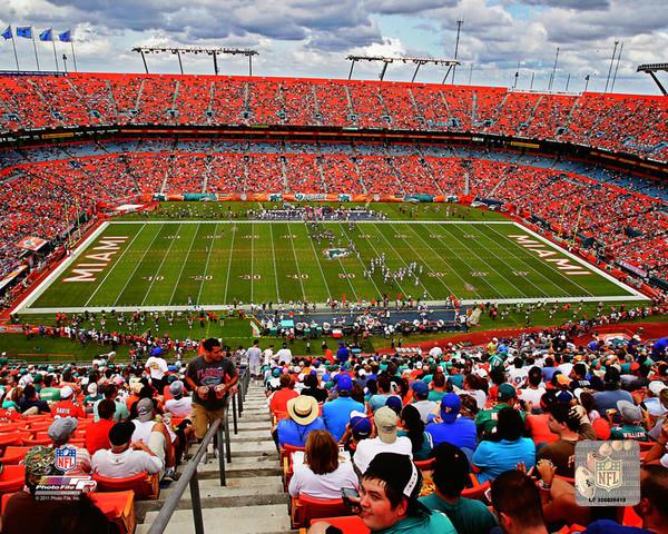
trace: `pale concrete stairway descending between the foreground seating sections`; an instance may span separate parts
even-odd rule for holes
[[[232,415],[229,417],[232,463],[226,464],[226,486],[219,485],[218,459],[213,448],[209,448],[208,462],[197,469],[206,532],[277,534],[291,531],[288,497],[283,491],[278,453],[269,434],[272,422],[265,403],[262,386],[250,384],[236,435]],[[189,453],[196,449],[194,444]],[[158,501],[136,503],[138,534],[148,532],[169,493],[170,488],[166,488]],[[165,532],[195,532],[189,491],[183,494]]]

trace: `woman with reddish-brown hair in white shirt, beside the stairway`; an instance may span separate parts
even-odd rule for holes
[[[327,431],[313,431],[306,438],[304,463],[294,464],[288,493],[293,497],[341,498],[342,487],[357,487],[353,463],[342,461],[338,445]]]

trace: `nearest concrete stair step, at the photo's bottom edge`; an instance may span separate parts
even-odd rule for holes
[[[137,534],[146,534],[157,515],[157,512],[147,513],[144,524],[137,526]],[[291,530],[285,504],[204,508],[202,515],[205,532],[217,532],[222,527],[225,528],[225,532],[234,532],[235,534],[273,534],[285,533]],[[194,532],[193,512],[189,510],[174,512],[165,530],[166,534],[190,534]]]

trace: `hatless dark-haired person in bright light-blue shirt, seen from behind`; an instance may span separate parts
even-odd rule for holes
[[[504,471],[517,468],[519,463],[527,471],[536,465],[536,444],[522,437],[524,422],[520,413],[511,407],[499,411],[499,421],[494,438],[483,441],[473,454],[473,465],[478,468],[478,481],[482,484],[493,481]]]

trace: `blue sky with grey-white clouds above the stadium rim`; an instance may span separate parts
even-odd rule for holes
[[[458,18],[462,67],[456,81],[544,90],[554,52],[560,59],[554,88],[602,91],[613,42],[623,41],[616,92],[656,95],[642,62],[668,61],[666,0],[4,0],[0,26],[37,30],[71,28],[79,70],[140,72],[136,46],[232,46],[259,51],[258,76],[345,78],[355,55],[450,58]],[[16,41],[22,68],[35,69],[29,40]],[[50,43],[38,42],[40,62],[55,69]],[[61,55],[69,47],[58,44]],[[148,57],[154,72],[178,72],[175,57]],[[71,58],[68,67],[72,68]],[[471,71],[472,67],[472,71]],[[0,69],[14,69],[11,41],[0,40]],[[60,68],[62,61],[60,60]],[[186,72],[210,73],[206,58],[188,59]],[[242,58],[220,61],[224,73],[246,73]],[[354,77],[377,79],[381,66],[358,63]],[[385,79],[410,80],[412,66],[390,66]],[[421,68],[419,81],[440,82],[443,69]],[[667,77],[668,78],[668,77]],[[668,83],[668,79],[666,79]]]

